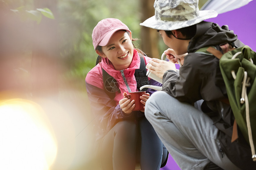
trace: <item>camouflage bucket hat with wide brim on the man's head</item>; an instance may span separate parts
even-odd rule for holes
[[[198,0],[155,0],[155,15],[148,18],[141,26],[158,30],[175,30],[217,17],[214,10],[199,11]]]

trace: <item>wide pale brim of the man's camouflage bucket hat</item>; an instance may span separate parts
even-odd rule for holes
[[[187,20],[187,21],[159,21],[155,19],[155,15],[153,17],[148,18],[143,23],[140,23],[141,26],[154,28],[157,30],[165,30],[165,31],[171,31],[176,30],[179,28],[184,28],[188,26],[195,25],[197,23],[200,23],[203,20],[209,19],[209,18],[215,18],[217,17],[218,13],[214,10],[202,10],[199,11],[199,16],[193,20]]]

